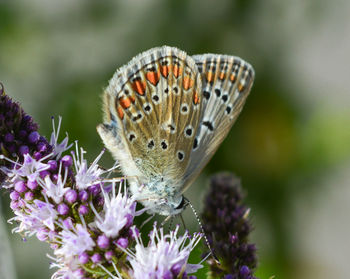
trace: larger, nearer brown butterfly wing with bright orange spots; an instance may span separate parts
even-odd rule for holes
[[[201,92],[195,61],[177,48],[151,49],[117,71],[105,90],[98,132],[125,175],[182,184]]]

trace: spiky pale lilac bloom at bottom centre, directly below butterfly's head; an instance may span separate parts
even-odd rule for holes
[[[196,272],[201,265],[188,264],[188,257],[201,239],[200,234],[177,237],[179,227],[164,235],[163,229],[156,224],[150,234],[150,241],[145,247],[141,238],[136,238],[134,253],[128,253],[132,267],[130,275],[135,279],[176,278],[181,271],[186,274]]]

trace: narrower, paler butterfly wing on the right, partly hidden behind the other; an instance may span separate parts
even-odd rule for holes
[[[200,124],[182,191],[208,163],[241,112],[254,80],[254,70],[242,59],[228,55],[192,56],[202,77]]]

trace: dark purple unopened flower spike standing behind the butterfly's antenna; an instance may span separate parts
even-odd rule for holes
[[[218,174],[211,180],[202,219],[204,230],[221,265],[210,261],[215,277],[253,279],[257,264],[254,244],[248,243],[252,228],[249,210],[242,203],[239,180],[230,174]]]

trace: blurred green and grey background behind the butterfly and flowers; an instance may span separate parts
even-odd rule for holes
[[[170,45],[242,57],[255,68],[252,93],[187,196],[200,209],[210,174],[236,173],[257,276],[347,278],[349,12],[347,0],[0,1],[0,80],[43,135],[61,115],[91,161],[103,148],[95,129],[103,88],[133,56]],[[109,154],[102,164],[113,164]],[[5,222],[12,215],[1,196]],[[51,250],[11,228],[17,278],[49,278]]]

